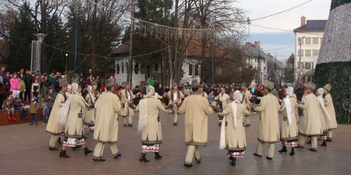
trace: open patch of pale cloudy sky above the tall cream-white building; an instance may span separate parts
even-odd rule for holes
[[[239,0],[238,6],[246,10],[246,15],[251,19],[261,18],[274,13],[279,13],[293,6],[298,6],[307,0]],[[277,52],[278,59],[287,59],[295,48],[282,50],[271,50],[275,48],[284,48],[295,45],[295,34],[293,29],[300,27],[300,18],[305,16],[306,20],[327,20],[329,16],[331,0],[313,0],[303,6],[289,10],[279,15],[274,15],[263,20],[254,20],[251,22],[250,35],[251,42],[260,41],[261,48],[274,55]],[[265,29],[255,27],[272,27],[277,29],[286,29],[289,31],[279,31],[274,29]],[[246,26],[247,27],[247,26]],[[249,38],[248,40],[249,41]]]

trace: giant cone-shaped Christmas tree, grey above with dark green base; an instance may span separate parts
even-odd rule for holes
[[[322,47],[314,73],[318,87],[331,84],[338,122],[343,122],[343,102],[351,98],[351,0],[332,0]]]

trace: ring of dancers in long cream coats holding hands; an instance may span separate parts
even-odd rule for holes
[[[55,144],[62,144],[60,158],[70,158],[67,148],[72,150],[83,148],[84,155],[93,153],[93,161],[103,162],[102,153],[106,144],[110,146],[112,156],[117,159],[121,153],[117,148],[119,119],[122,118],[124,127],[133,127],[132,117],[138,111],[138,132],[141,133],[140,162],[150,162],[146,153],[154,152],[155,160],[161,159],[159,147],[162,144],[162,129],[160,111],[173,116],[173,125],[178,125],[178,114],[185,114],[185,146],[188,146],[185,156],[185,167],[192,167],[195,162],[201,162],[199,148],[208,143],[208,116],[216,112],[220,118],[220,150],[227,150],[230,164],[235,166],[237,158],[244,158],[246,150],[245,127],[251,125],[249,116],[251,110],[260,112],[258,122],[258,144],[253,155],[263,157],[264,144],[269,144],[267,160],[274,158],[274,146],[281,142],[279,153],[295,155],[294,148],[304,148],[305,143],[311,144],[310,151],[317,151],[317,139],[322,139],[322,146],[326,141],[332,141],[332,131],[337,128],[333,99],[329,93],[331,85],[319,88],[314,94],[316,85],[307,83],[305,95],[301,102],[296,99],[293,87],[286,89],[286,97],[279,104],[279,100],[272,94],[274,83],[266,81],[265,96],[260,98],[260,104],[249,102],[251,94],[246,85],[241,91],[235,90],[232,97],[224,90],[215,100],[208,102],[208,95],[203,92],[203,86],[197,80],[191,84],[191,91],[183,94],[178,85],[173,83],[171,91],[163,95],[157,94],[152,85],[146,87],[146,95],[138,106],[132,100],[143,96],[141,92],[133,94],[128,83],[124,90],[116,91],[114,80],[109,78],[105,82],[105,92],[96,92],[96,83],[89,86],[86,98],[81,96],[78,83],[68,85],[66,79],[60,80],[60,92],[55,97],[53,109],[46,127],[51,134],[49,151],[58,151]],[[168,105],[159,99],[169,99]],[[50,99],[48,99],[50,100]],[[303,109],[303,115],[296,116],[296,109]],[[279,114],[281,113],[281,114]],[[300,123],[298,127],[298,123]],[[97,142],[94,151],[86,147],[84,125],[93,130],[93,140]],[[280,125],[280,128],[279,128]],[[61,141],[60,136],[65,139]],[[310,141],[306,142],[307,137]]]

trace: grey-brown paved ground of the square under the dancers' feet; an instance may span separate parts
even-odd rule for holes
[[[246,127],[247,150],[245,158],[237,158],[232,167],[226,151],[219,151],[220,127],[215,114],[208,117],[208,146],[202,147],[201,163],[193,161],[194,167],[183,166],[187,147],[184,143],[184,115],[179,116],[179,125],[173,126],[172,117],[161,114],[164,144],[161,144],[161,160],[154,160],[149,153],[150,162],[139,162],[141,141],[137,132],[138,113],[133,118],[134,127],[123,127],[119,123],[119,142],[122,156],[115,160],[109,146],[105,146],[102,158],[106,162],[93,162],[93,155],[84,155],[79,148],[67,149],[71,158],[59,158],[59,151],[48,151],[50,134],[46,125],[28,124],[0,127],[0,174],[351,174],[351,125],[338,125],[333,132],[333,142],[327,147],[318,146],[317,153],[296,148],[296,155],[278,153],[280,144],[275,146],[273,160],[252,154],[256,152],[258,114],[251,116],[251,127]],[[121,121],[121,120],[120,120]],[[87,146],[95,148],[93,132],[86,131]],[[319,145],[322,144],[319,141]],[[60,146],[57,146],[60,148]],[[290,149],[290,148],[289,148]]]

